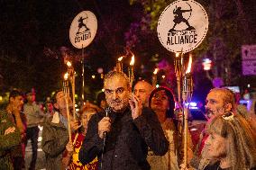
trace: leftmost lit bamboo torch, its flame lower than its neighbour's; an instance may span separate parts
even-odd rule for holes
[[[69,73],[64,75],[63,81],[63,93],[65,94],[65,101],[66,101],[66,109],[67,109],[67,117],[68,117],[68,130],[69,130],[69,141],[71,139],[71,130],[70,130],[70,118],[69,118]]]

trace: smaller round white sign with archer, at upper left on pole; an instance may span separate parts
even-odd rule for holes
[[[90,11],[78,13],[70,25],[69,40],[77,49],[86,48],[95,38],[96,15]]]

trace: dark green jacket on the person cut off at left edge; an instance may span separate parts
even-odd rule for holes
[[[5,130],[15,127],[14,132],[5,135]],[[21,145],[21,133],[16,125],[10,121],[8,113],[0,111],[0,169],[14,169],[12,149]]]

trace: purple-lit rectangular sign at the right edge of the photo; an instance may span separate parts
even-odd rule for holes
[[[242,75],[256,75],[256,45],[242,46]]]

